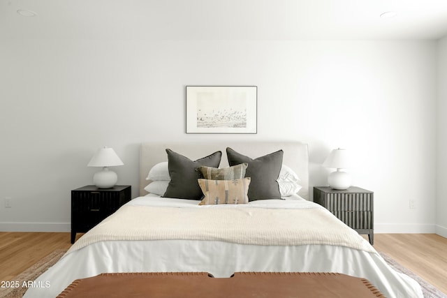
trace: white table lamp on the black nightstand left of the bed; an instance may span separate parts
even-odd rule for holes
[[[124,165],[112,148],[104,147],[96,151],[87,167],[103,167],[103,170],[96,172],[93,176],[93,183],[98,188],[111,188],[117,184],[117,173],[109,170],[108,167]]]

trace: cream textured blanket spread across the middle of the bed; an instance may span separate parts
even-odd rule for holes
[[[71,246],[97,241],[215,240],[264,246],[327,244],[374,252],[326,209],[173,208],[123,206]]]

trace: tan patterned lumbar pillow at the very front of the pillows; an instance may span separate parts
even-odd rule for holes
[[[250,178],[235,180],[198,179],[205,198],[199,205],[247,204]]]

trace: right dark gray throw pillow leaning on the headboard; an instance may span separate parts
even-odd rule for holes
[[[252,159],[228,147],[226,149],[226,155],[230,165],[248,163],[245,177],[251,177],[248,193],[249,201],[281,199],[277,179],[281,171],[284,151],[279,150]]]

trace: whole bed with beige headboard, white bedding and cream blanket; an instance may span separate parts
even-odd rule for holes
[[[214,197],[199,205],[206,195],[200,201],[147,193],[147,186],[155,182],[147,180],[148,173],[166,164],[168,158],[168,166],[174,165],[167,148],[179,154],[180,159],[191,161],[221,151],[219,167],[226,169],[227,147],[234,151],[228,153],[231,163],[240,156],[252,158],[244,169],[247,173],[250,167],[256,169],[251,177],[262,173],[257,166],[262,168],[277,158],[276,152],[281,152],[281,171],[287,168],[288,173],[293,173],[300,188],[287,194],[280,189],[281,198],[269,200],[269,194],[263,200],[219,205],[213,203]],[[265,160],[258,159],[265,156]],[[368,241],[323,207],[309,202],[308,166],[307,144],[298,142],[141,144],[140,196],[78,239],[56,265],[38,278],[50,287],[29,288],[24,297],[56,297],[75,279],[102,273],[208,272],[224,278],[248,271],[335,272],[367,278],[386,297],[423,297],[416,281],[391,269]],[[273,171],[274,167],[268,169]],[[175,180],[175,171],[168,170]],[[290,177],[279,176],[278,181]],[[253,194],[249,191],[263,189],[254,180],[251,178],[247,188],[241,186],[249,198]]]

